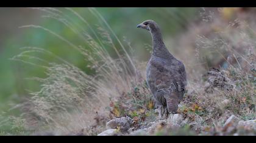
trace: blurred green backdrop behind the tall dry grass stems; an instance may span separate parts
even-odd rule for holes
[[[69,16],[72,23],[88,30],[79,18],[65,8],[58,8]],[[79,13],[93,28],[102,26],[88,8],[72,8]],[[162,28],[165,40],[186,30],[188,22],[196,18],[198,8],[96,8],[108,22],[119,39],[126,39],[135,49],[138,59],[146,61],[149,52],[144,44],[151,44],[151,37],[146,30],[138,30],[136,25],[146,19],[154,19]],[[7,111],[10,107],[28,98],[29,91],[38,91],[40,83],[26,78],[34,76],[44,78],[45,69],[31,66],[19,61],[12,61],[15,55],[22,52],[21,47],[40,47],[51,51],[68,62],[73,63],[87,73],[90,71],[84,57],[70,48],[65,42],[38,28],[19,28],[22,25],[41,25],[65,37],[76,45],[87,47],[76,33],[60,21],[44,18],[47,12],[31,8],[0,8],[0,111]],[[90,33],[90,30],[89,30]],[[116,41],[114,41],[116,42]],[[111,50],[111,49],[107,49]],[[110,51],[111,53],[111,51]],[[59,62],[47,55],[35,55],[48,62]],[[113,54],[113,57],[115,55]],[[31,59],[33,61],[35,59]],[[42,63],[43,64],[43,63]]]

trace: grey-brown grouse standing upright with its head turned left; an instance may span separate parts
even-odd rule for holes
[[[185,66],[169,53],[157,23],[147,20],[137,25],[151,33],[153,52],[146,68],[146,79],[160,109],[160,118],[177,113],[187,85]]]

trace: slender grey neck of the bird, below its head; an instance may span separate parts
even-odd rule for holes
[[[151,32],[152,36],[152,45],[153,45],[153,55],[155,56],[163,56],[163,57],[172,57],[171,53],[169,53],[168,49],[165,47],[165,43],[163,42],[163,37],[160,30],[155,30]]]

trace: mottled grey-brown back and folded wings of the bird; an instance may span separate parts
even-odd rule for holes
[[[186,76],[182,62],[177,59],[163,59],[152,56],[146,68],[148,86],[156,100],[163,96],[183,96]],[[174,94],[172,94],[174,93]]]

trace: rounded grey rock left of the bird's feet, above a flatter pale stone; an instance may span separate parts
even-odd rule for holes
[[[126,132],[130,128],[131,121],[128,118],[116,118],[107,122],[107,129],[116,129],[120,128],[121,132]]]

